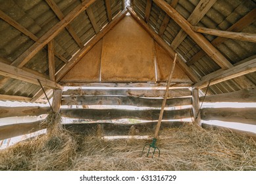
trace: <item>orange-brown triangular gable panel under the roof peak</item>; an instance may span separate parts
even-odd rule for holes
[[[132,18],[124,17],[62,82],[167,81],[172,58]],[[173,82],[192,83],[176,65]]]

